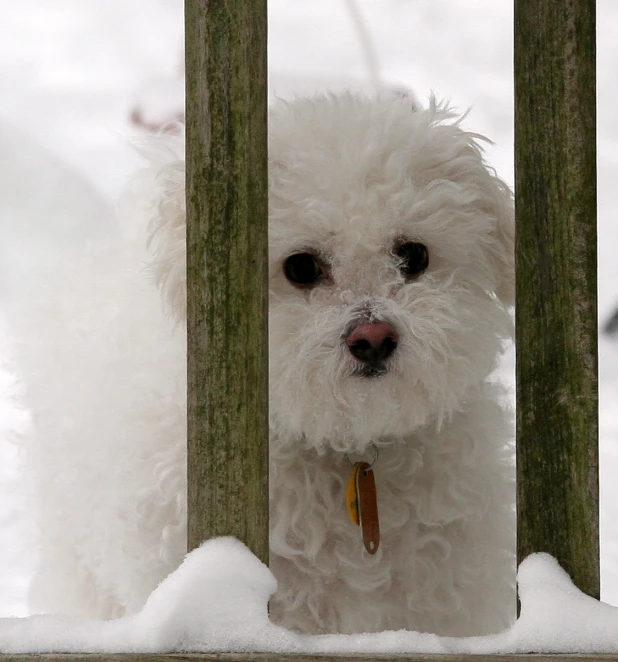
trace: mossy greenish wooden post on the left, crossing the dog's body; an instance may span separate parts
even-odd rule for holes
[[[268,561],[266,1],[186,0],[188,546]]]

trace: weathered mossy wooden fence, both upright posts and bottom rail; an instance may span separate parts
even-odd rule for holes
[[[266,2],[185,10],[189,546],[235,535],[267,560]],[[515,90],[518,554],[550,552],[598,597],[592,0],[515,1]],[[311,659],[4,659],[93,657]]]

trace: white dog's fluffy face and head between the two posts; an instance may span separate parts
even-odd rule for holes
[[[272,111],[273,443],[360,451],[408,435],[494,367],[512,204],[476,138],[405,99]]]

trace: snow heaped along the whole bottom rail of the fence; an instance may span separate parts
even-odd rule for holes
[[[618,608],[581,593],[558,563],[534,554],[520,566],[521,616],[487,637],[400,630],[304,636],[268,620],[270,570],[240,542],[216,538],[185,558],[133,616],[0,619],[0,653],[598,653],[618,652]]]

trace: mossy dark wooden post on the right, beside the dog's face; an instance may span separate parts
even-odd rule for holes
[[[515,0],[518,557],[599,596],[594,0]]]

